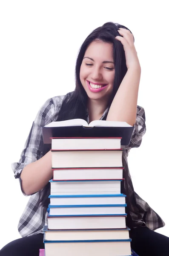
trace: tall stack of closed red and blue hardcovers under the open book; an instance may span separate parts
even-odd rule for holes
[[[53,131],[59,134],[52,125],[43,130],[44,141]],[[122,137],[110,137],[109,132],[107,137],[70,135],[69,129],[69,137],[51,136],[53,179],[48,226],[43,228],[45,255],[131,256],[126,195],[120,191]]]

